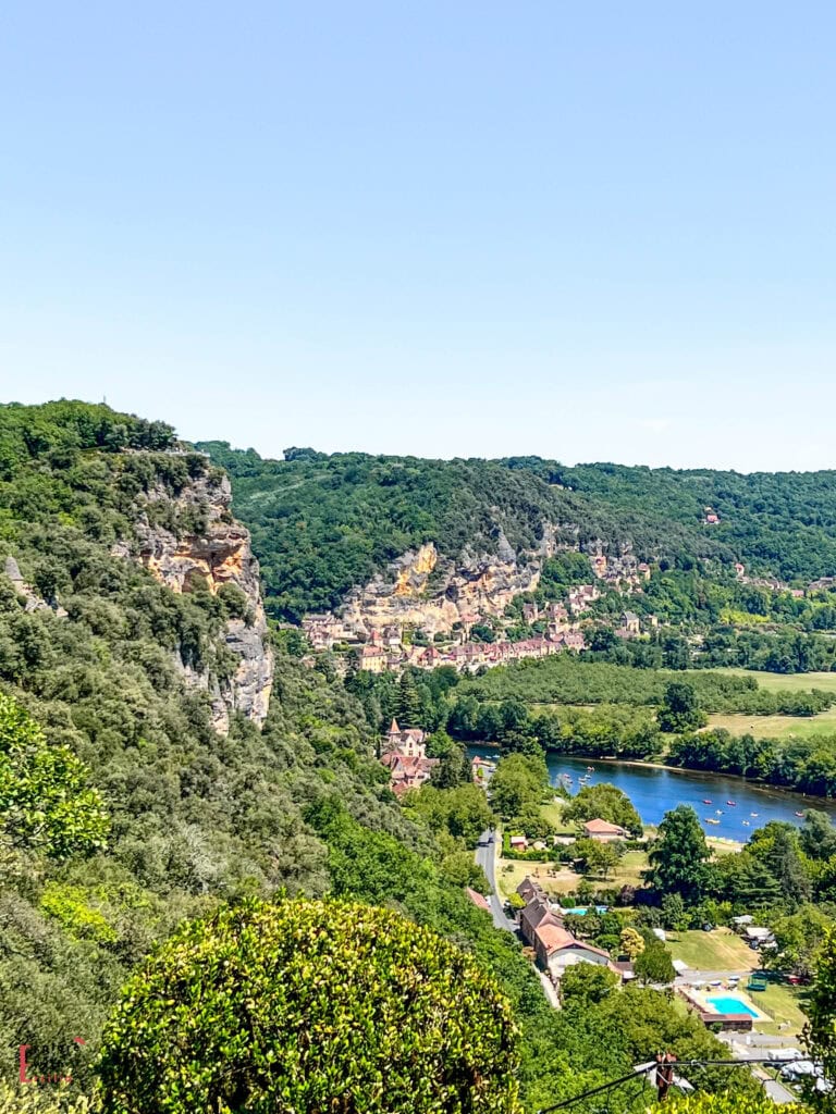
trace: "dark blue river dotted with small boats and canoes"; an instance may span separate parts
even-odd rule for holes
[[[479,754],[496,760],[498,755],[492,746],[472,746],[468,750],[472,756]],[[678,804],[691,804],[707,836],[721,836],[743,843],[756,828],[762,828],[769,820],[789,820],[800,824],[796,813],[805,809],[820,809],[836,820],[834,801],[761,786],[742,778],[630,765],[602,759],[571,759],[551,752],[546,755],[546,765],[552,784],[563,782],[571,793],[577,792],[580,779],[587,773],[586,768],[593,766],[594,772],[590,773],[585,784],[605,781],[618,785],[633,802],[645,824],[658,824],[664,813]],[[729,801],[735,804],[729,804]],[[708,823],[708,820],[717,823]]]

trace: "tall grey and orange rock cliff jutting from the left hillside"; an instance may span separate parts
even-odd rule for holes
[[[246,597],[246,617],[229,619],[223,632],[226,647],[239,658],[229,682],[208,673],[196,673],[179,657],[177,663],[189,684],[206,690],[212,701],[215,729],[230,729],[230,714],[241,712],[261,724],[268,714],[273,684],[273,653],[268,644],[268,624],[259,585],[259,563],[250,546],[250,531],[231,512],[230,481],[214,475],[193,480],[176,497],[154,490],[148,504],[168,502],[173,516],[200,521],[200,530],[182,532],[152,525],[150,507],[140,509],[136,522],[137,545],[118,546],[120,556],[139,560],[173,592],[208,590],[216,595],[234,585]]]

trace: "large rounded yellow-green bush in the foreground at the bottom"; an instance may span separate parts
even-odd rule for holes
[[[98,1064],[106,1114],[516,1112],[509,1007],[398,913],[246,902],[178,931],[128,983]]]

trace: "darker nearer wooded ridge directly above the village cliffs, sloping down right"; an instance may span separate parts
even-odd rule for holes
[[[216,441],[197,448],[225,468],[235,512],[253,532],[269,610],[299,618],[336,607],[346,593],[425,541],[453,559],[496,553],[502,538],[534,550],[548,526],[558,543],[605,539],[638,554],[686,549],[722,556],[711,536],[660,515],[620,515],[550,485],[528,469],[489,460],[421,460],[288,449],[264,460]]]

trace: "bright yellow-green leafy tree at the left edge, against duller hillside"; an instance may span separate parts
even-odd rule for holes
[[[0,839],[62,859],[105,846],[108,821],[88,770],[0,693]]]

